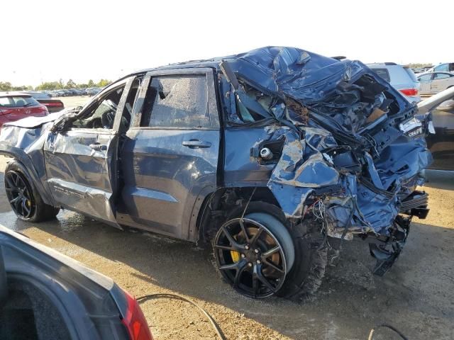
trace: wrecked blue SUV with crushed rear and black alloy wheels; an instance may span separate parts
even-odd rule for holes
[[[367,237],[382,275],[426,217],[417,113],[361,62],[292,47],[171,64],[4,125],[6,195],[21,220],[65,208],[211,242],[238,292],[298,300],[328,246]]]

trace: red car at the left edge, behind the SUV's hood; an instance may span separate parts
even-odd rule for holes
[[[43,104],[28,94],[0,93],[0,126],[30,116],[48,115]]]

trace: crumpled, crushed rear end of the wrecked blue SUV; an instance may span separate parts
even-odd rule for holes
[[[228,123],[266,130],[250,155],[275,164],[267,186],[287,219],[311,215],[328,237],[372,237],[382,275],[402,251],[411,217],[428,212],[427,194],[415,189],[431,164],[430,122],[360,62],[279,48],[223,60],[224,97],[235,98]]]

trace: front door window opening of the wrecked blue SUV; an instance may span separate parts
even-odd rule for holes
[[[74,120],[72,126],[74,128],[89,128],[89,129],[111,129],[114,127],[114,118],[116,113],[116,108],[120,102],[121,94],[125,85],[113,89],[108,94],[101,98],[101,101],[98,105],[95,105],[93,108],[89,109],[87,113]],[[131,119],[131,116],[130,116]]]

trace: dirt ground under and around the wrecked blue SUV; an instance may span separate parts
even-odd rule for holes
[[[77,99],[79,98],[79,99]],[[70,107],[69,103],[65,106]],[[88,97],[73,97],[73,106]],[[78,102],[76,102],[78,101]],[[0,157],[0,223],[113,278],[136,297],[176,293],[204,307],[228,339],[367,339],[388,323],[409,339],[454,339],[454,180],[425,188],[431,212],[415,218],[406,248],[389,273],[371,274],[367,242],[344,242],[319,293],[301,304],[235,293],[211,264],[211,251],[155,234],[123,232],[74,212],[41,224],[18,221],[4,194]],[[209,322],[185,302],[149,300],[141,307],[155,339],[216,339]],[[399,339],[386,329],[375,339]]]

